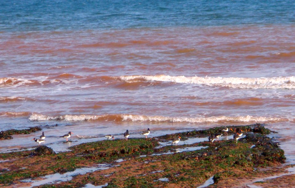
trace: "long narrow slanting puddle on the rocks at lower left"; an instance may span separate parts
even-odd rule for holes
[[[25,179],[22,180],[22,182],[31,182],[31,185],[29,187],[33,186],[40,186],[43,184],[53,184],[53,183],[60,183],[69,181],[73,178],[75,175],[81,175],[86,174],[88,172],[98,171],[98,170],[105,170],[110,168],[111,166],[109,164],[99,164],[96,167],[85,167],[85,168],[79,168],[72,172],[66,172],[64,174],[52,174],[52,175],[46,175],[41,177],[41,180],[33,180],[33,179]]]

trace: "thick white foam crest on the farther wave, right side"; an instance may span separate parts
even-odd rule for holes
[[[222,78],[222,77],[185,77],[169,75],[132,75],[117,77],[126,82],[145,79],[147,81],[177,82],[204,84],[208,86],[221,86],[247,89],[295,89],[295,77],[272,77],[272,78]]]

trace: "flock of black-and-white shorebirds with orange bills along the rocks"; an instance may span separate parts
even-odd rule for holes
[[[233,129],[230,129],[231,131],[233,131]],[[209,141],[211,143],[214,142],[214,140],[218,139],[220,136],[222,136],[223,134],[226,134],[227,135],[227,132],[228,132],[228,128],[226,129],[221,129],[220,132],[222,133],[216,133],[216,134],[211,134],[209,136]],[[234,132],[234,131],[233,131]],[[69,131],[67,134],[63,135],[63,136],[60,136],[60,137],[63,137],[63,138],[66,138],[68,141],[68,138],[71,137],[71,134],[73,134],[73,132]],[[148,138],[148,135],[150,134],[150,129],[148,128],[148,130],[146,131],[143,131],[142,133],[140,133],[141,135],[144,135],[146,138]],[[239,129],[237,132],[234,133],[234,139],[236,140],[236,143],[238,143],[238,139],[243,135],[243,131],[242,129]],[[129,131],[126,130],[126,132],[124,132],[124,138],[126,140],[128,140],[128,137],[130,136],[129,134]],[[106,137],[108,140],[109,139],[115,139],[113,135],[111,134],[108,134],[108,135],[105,135],[104,137]],[[172,141],[172,144],[178,144],[178,142],[180,141],[181,137],[178,136],[176,138],[174,138],[174,140]],[[35,140],[35,142],[37,142],[39,145],[45,141],[45,135],[44,135],[44,132],[42,132],[42,135],[40,136],[40,139],[37,139],[37,138],[33,138],[32,140]]]

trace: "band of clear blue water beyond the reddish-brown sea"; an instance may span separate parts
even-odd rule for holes
[[[290,0],[2,0],[1,31],[292,24]]]

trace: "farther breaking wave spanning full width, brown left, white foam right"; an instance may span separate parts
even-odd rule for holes
[[[123,81],[118,83],[117,81]],[[127,76],[79,76],[63,73],[52,77],[33,77],[32,79],[0,78],[0,87],[4,86],[42,86],[47,84],[89,85],[108,83],[109,86],[134,89],[139,86],[154,86],[161,82],[202,84],[206,86],[231,87],[243,89],[295,89],[295,76],[270,78],[239,78],[239,77],[186,77],[169,75],[127,75]]]

